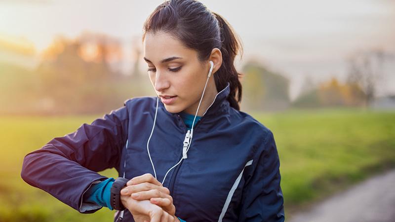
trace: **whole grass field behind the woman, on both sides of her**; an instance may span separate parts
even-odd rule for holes
[[[288,212],[395,166],[395,112],[355,109],[252,113],[270,128]],[[79,214],[20,178],[23,157],[102,115],[0,116],[0,222],[110,222],[112,211]],[[114,169],[102,172],[116,177]]]

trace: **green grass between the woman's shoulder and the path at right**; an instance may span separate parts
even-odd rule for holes
[[[395,112],[318,109],[253,116],[274,133],[286,210],[395,167]]]

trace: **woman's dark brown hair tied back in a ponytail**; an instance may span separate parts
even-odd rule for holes
[[[235,56],[242,50],[232,27],[219,14],[211,12],[196,0],[167,0],[161,3],[144,23],[146,33],[165,32],[180,40],[183,45],[197,51],[199,61],[206,61],[213,48],[222,53],[222,65],[214,74],[217,91],[230,84],[227,100],[240,110],[241,83],[234,66]]]

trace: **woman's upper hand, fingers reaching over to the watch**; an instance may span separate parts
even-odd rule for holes
[[[144,174],[127,182],[121,190],[121,196],[130,196],[135,200],[150,200],[151,203],[160,206],[164,211],[173,216],[176,208],[168,188],[164,187],[152,174]]]

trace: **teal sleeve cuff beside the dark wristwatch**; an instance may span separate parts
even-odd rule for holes
[[[92,185],[84,194],[83,202],[90,202],[113,210],[110,202],[110,191],[115,179],[109,178],[99,184]]]

